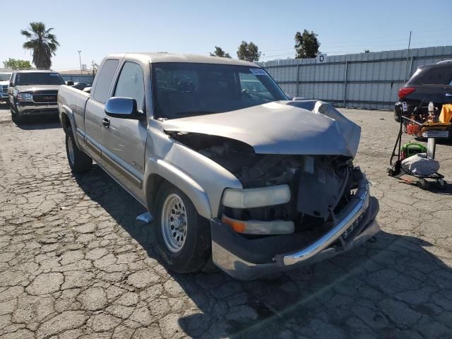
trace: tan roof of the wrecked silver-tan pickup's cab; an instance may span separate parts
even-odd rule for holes
[[[148,57],[151,64],[157,62],[194,62],[199,64],[225,64],[225,65],[239,65],[239,66],[254,66],[258,65],[237,59],[220,58],[220,57],[205,57],[196,54],[172,54],[172,53],[123,53],[112,54],[108,57]]]

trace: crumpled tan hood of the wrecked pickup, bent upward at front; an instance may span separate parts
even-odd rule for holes
[[[232,112],[171,119],[163,128],[232,138],[251,145],[256,153],[285,155],[355,157],[361,135],[361,128],[334,107],[313,100],[270,102]]]

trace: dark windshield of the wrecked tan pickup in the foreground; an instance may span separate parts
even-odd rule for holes
[[[155,112],[177,119],[287,100],[268,73],[249,66],[153,64]]]

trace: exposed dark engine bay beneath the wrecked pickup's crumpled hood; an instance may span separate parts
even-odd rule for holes
[[[244,189],[290,187],[288,203],[258,208],[222,206],[220,215],[234,220],[292,220],[295,232],[328,228],[356,186],[351,157],[256,154],[250,145],[220,136],[180,132],[171,136],[234,174]]]

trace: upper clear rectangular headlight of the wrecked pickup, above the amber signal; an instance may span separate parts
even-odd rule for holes
[[[225,189],[225,194],[223,194],[223,205],[230,208],[273,206],[289,201],[290,188],[288,185],[258,189]]]

